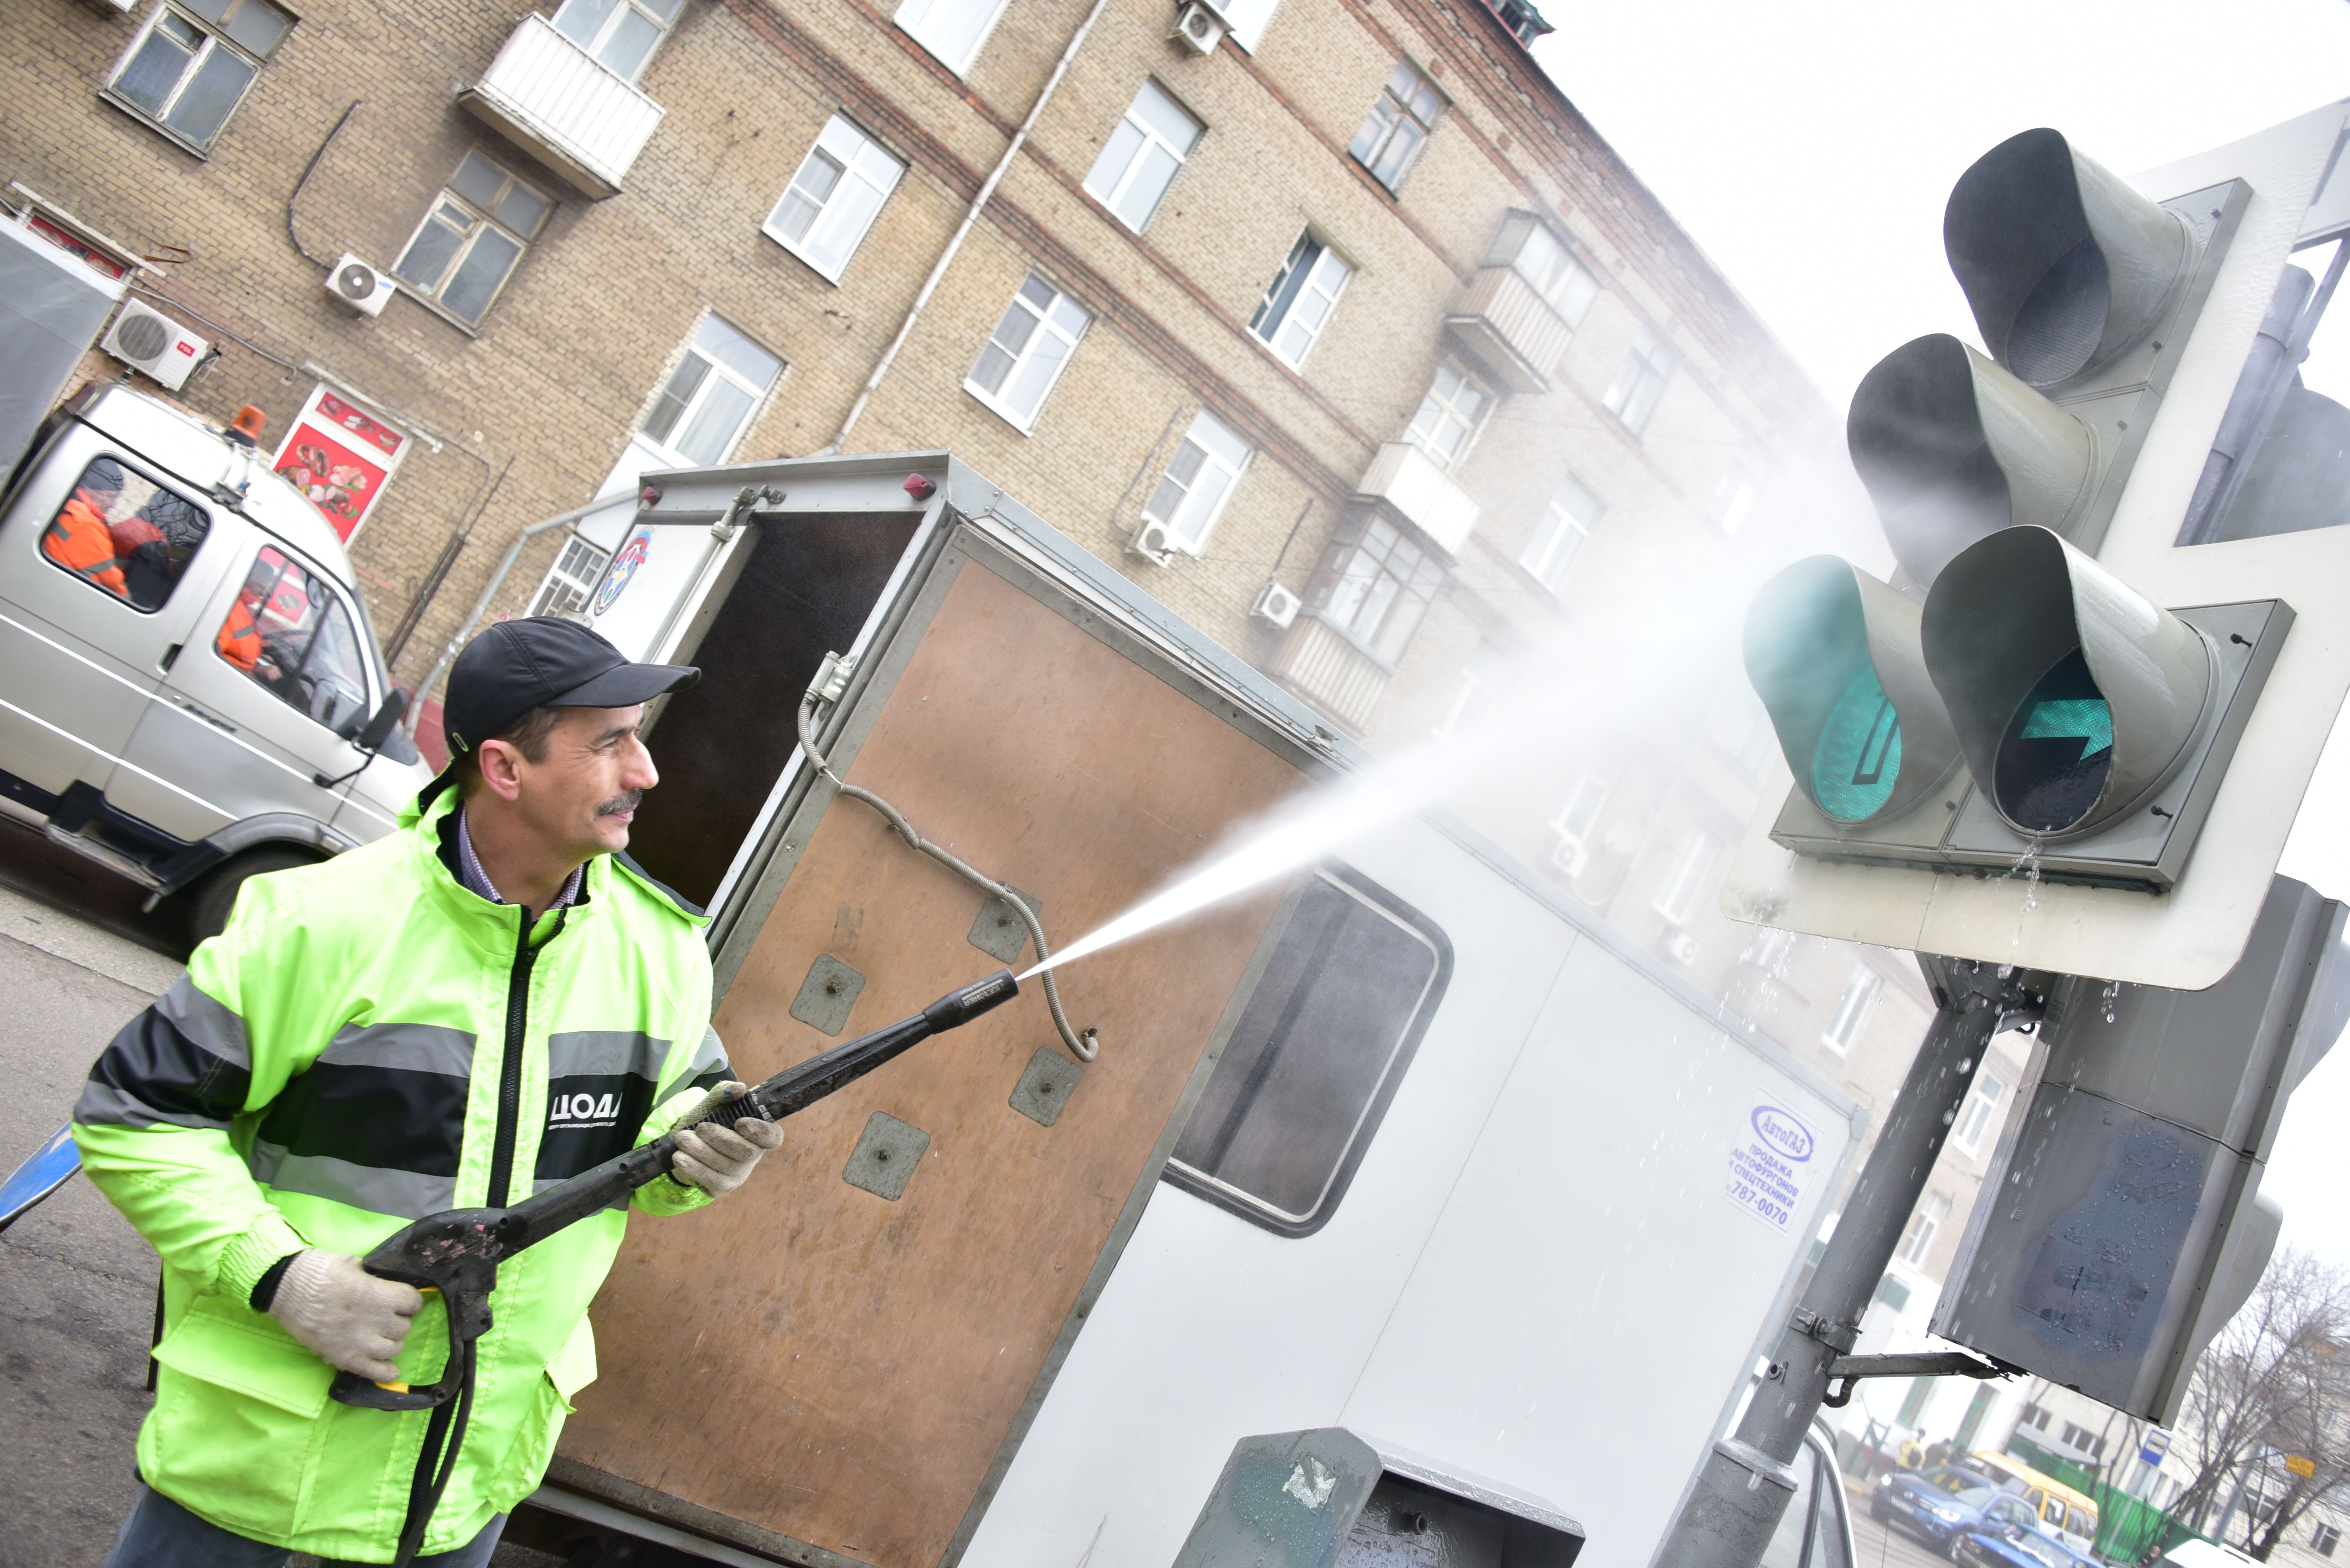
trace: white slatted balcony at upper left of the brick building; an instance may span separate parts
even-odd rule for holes
[[[456,101],[595,202],[620,195],[663,113],[536,12]]]

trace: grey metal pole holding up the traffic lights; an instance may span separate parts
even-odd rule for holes
[[[1974,1084],[1983,1047],[2005,1023],[2035,1016],[2052,976],[1920,955],[1934,988],[1934,1026],[1878,1134],[1828,1251],[1788,1319],[1770,1371],[1732,1437],[1713,1444],[1654,1568],[1758,1568],[1795,1493],[1795,1453],[1840,1378],[1861,1314],[1892,1263],[1934,1155]]]

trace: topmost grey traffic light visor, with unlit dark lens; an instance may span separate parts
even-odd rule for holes
[[[2009,136],[1958,178],[1941,242],[1990,357],[2033,387],[2155,331],[2197,251],[2176,216],[2052,129]]]

